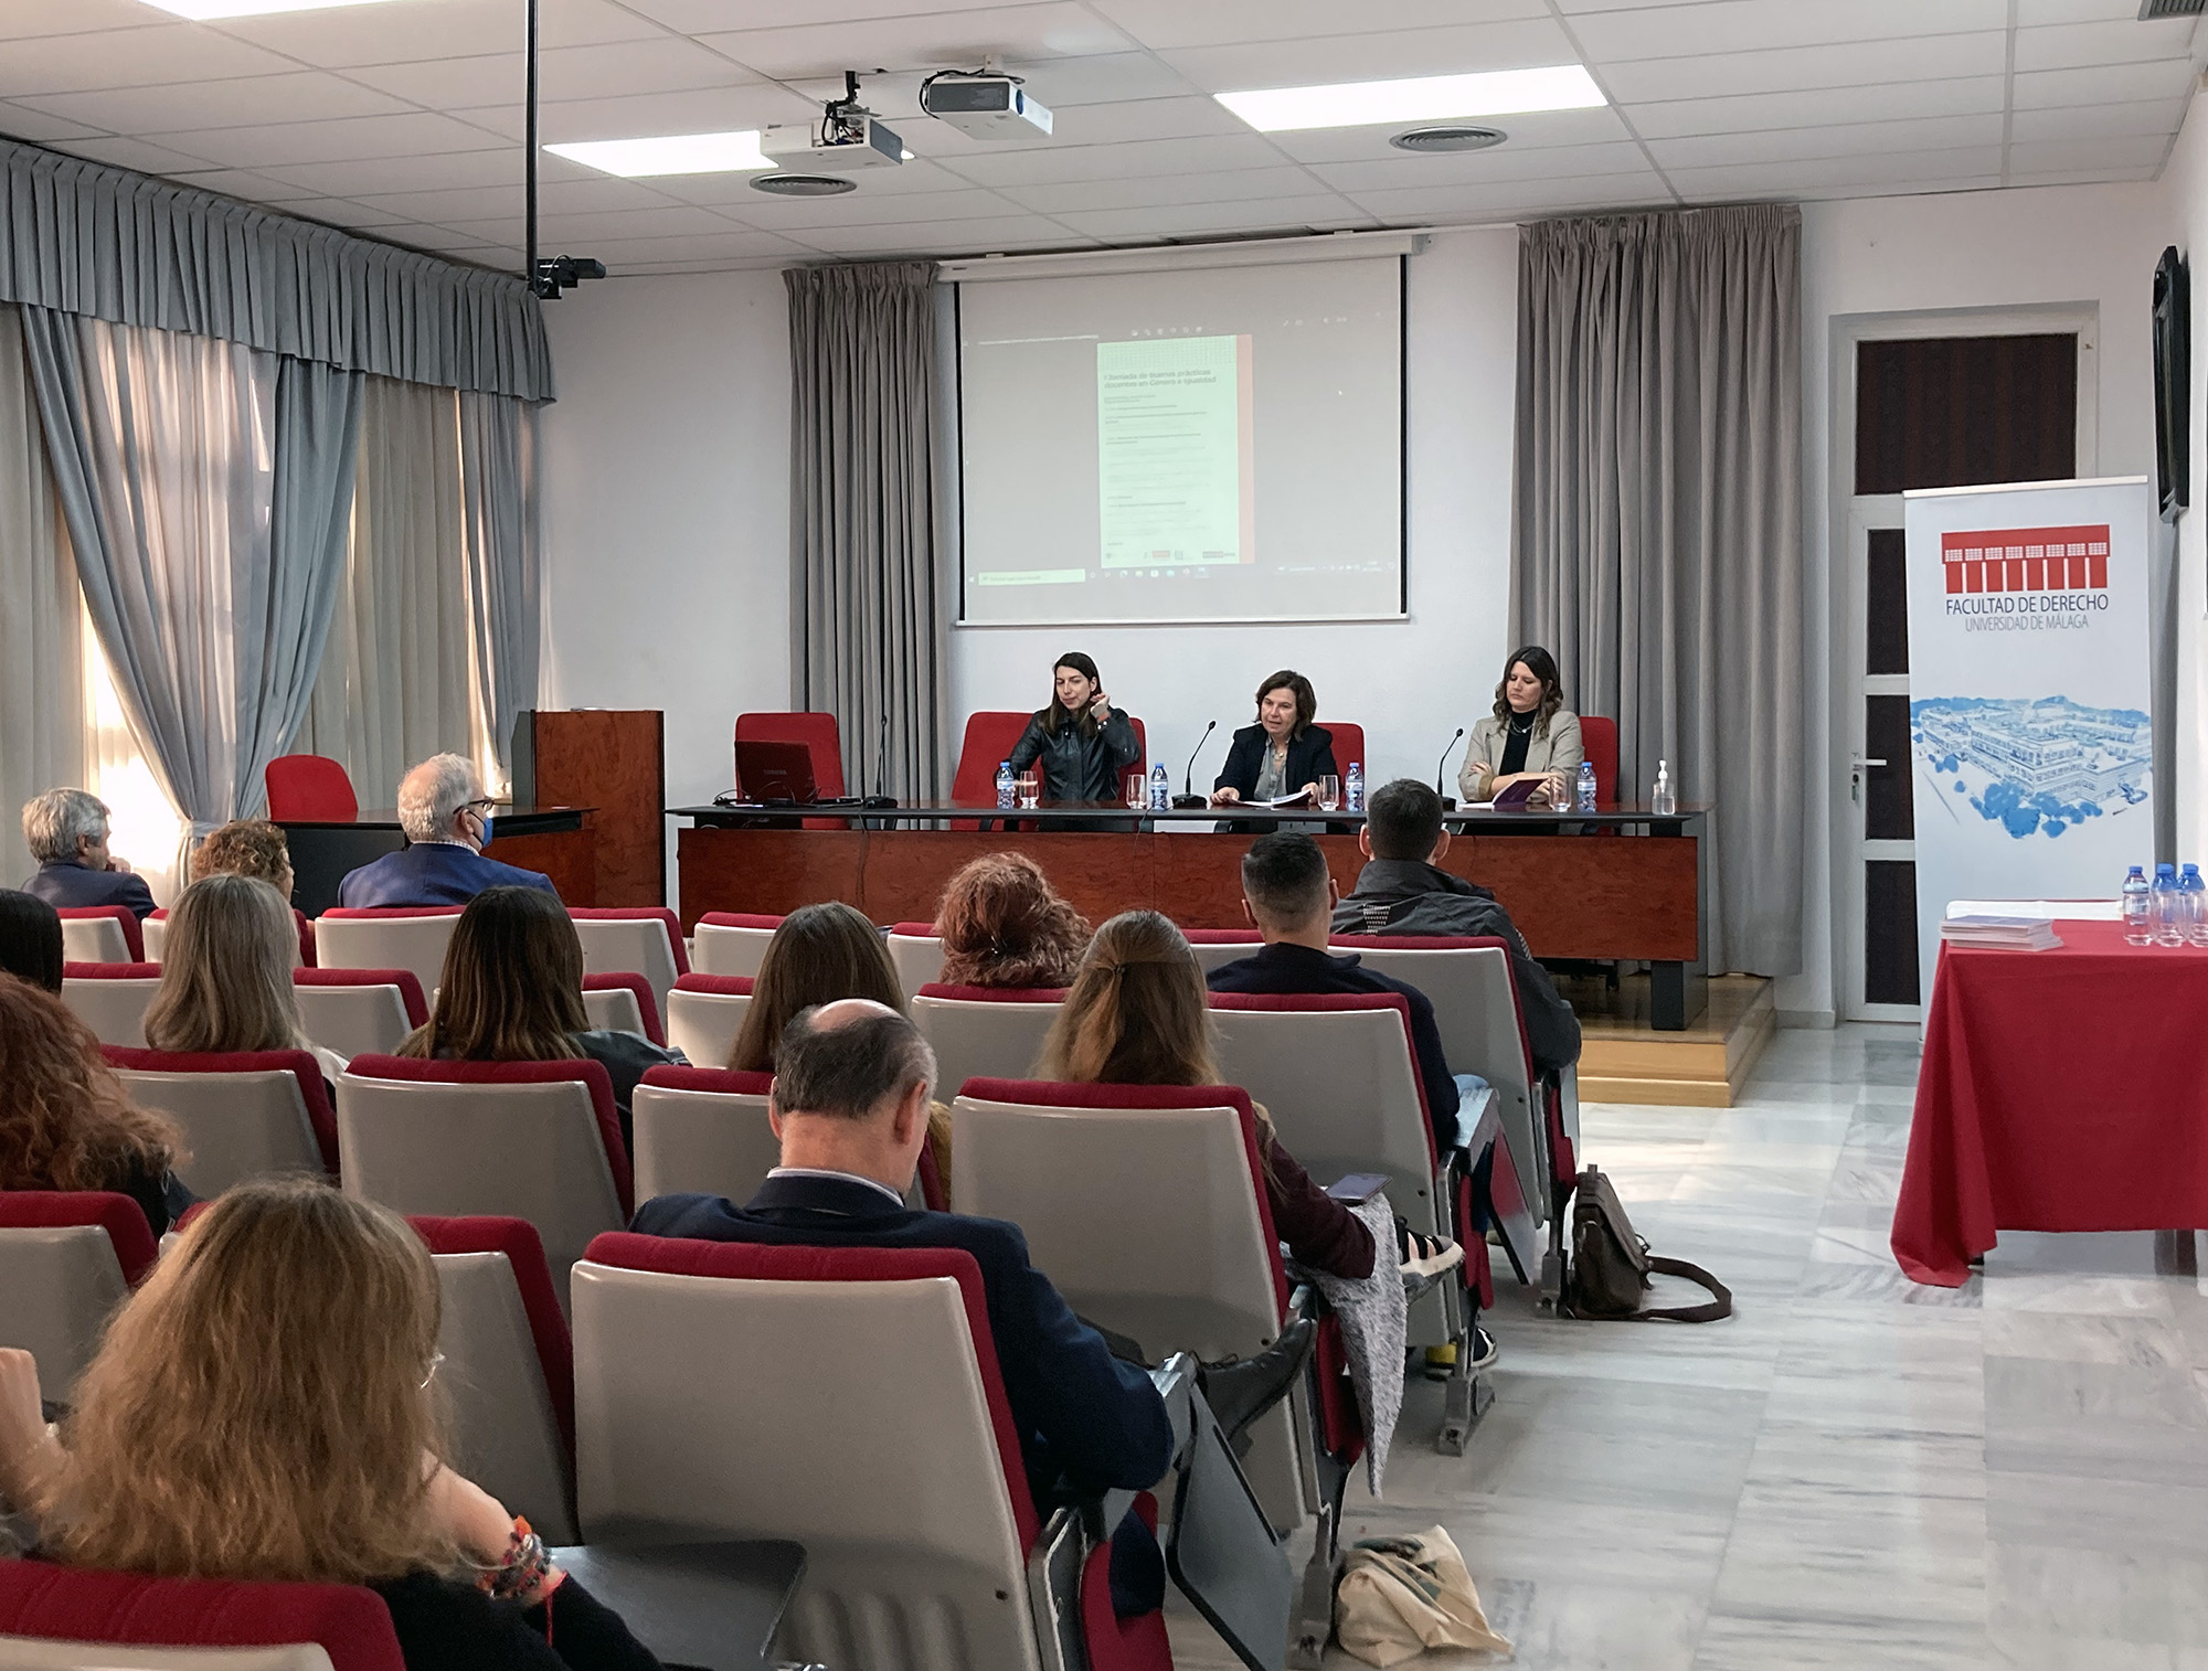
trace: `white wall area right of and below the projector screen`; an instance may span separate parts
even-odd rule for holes
[[[1256,682],[1294,667],[1318,687],[1320,724],[1365,726],[1367,781],[1431,779],[1448,733],[1493,702],[1510,651],[1515,342],[1517,227],[1442,234],[1411,256],[1409,620],[958,627],[952,724],[963,733],[976,709],[1042,706],[1051,660],[1086,649],[1113,700],[1144,720],[1150,755],[1170,764],[1175,788],[1203,722],[1219,720],[1197,762],[1210,786],[1228,731],[1256,715]],[[947,596],[956,598],[956,576]],[[1455,766],[1453,757],[1451,784]]]

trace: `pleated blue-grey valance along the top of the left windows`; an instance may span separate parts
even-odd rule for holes
[[[519,276],[0,139],[0,302],[552,400]]]

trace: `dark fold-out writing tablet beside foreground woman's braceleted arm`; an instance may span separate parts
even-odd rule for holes
[[[552,1558],[620,1614],[660,1662],[707,1671],[762,1671],[806,1572],[804,1547],[775,1539],[578,1543],[552,1550]]]

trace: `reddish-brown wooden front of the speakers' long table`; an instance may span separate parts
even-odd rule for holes
[[[1018,848],[1091,923],[1150,907],[1181,927],[1239,929],[1248,845],[1210,832],[682,830],[682,923],[693,927],[704,912],[786,914],[824,898],[877,923],[932,920],[958,865]],[[1362,865],[1356,839],[1318,845],[1351,892]],[[1698,956],[1691,837],[1457,837],[1444,870],[1490,887],[1535,956]]]

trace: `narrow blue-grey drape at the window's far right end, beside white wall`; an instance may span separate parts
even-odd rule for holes
[[[459,397],[468,611],[490,757],[506,770],[514,715],[537,702],[537,413],[508,395]]]

